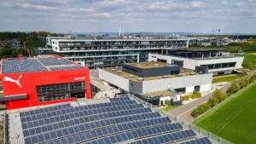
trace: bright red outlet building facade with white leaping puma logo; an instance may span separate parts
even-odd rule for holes
[[[1,74],[1,79],[5,98],[26,95],[23,99],[6,100],[7,109],[75,101],[77,95],[84,95],[84,99],[91,98],[90,72],[86,67],[60,71],[6,73]]]

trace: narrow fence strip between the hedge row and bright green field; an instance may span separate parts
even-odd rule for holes
[[[251,87],[253,84],[256,84],[256,81],[254,81],[251,84],[248,84],[246,87],[244,87],[243,89],[240,89],[238,92],[236,92],[233,95],[230,95],[228,98],[226,98],[224,101],[219,102],[216,106],[212,107],[211,109],[209,109],[207,112],[202,113],[200,116],[198,116],[197,118],[195,118],[193,120],[192,123],[195,123],[196,121],[198,121],[199,119],[203,118],[204,116],[206,116],[208,113],[212,112],[213,110],[215,110],[218,107],[221,107],[222,105],[224,105],[224,103],[226,103],[227,101],[230,101],[230,99],[236,97],[237,95],[241,94],[241,92],[243,92],[244,90],[248,89],[249,87]]]

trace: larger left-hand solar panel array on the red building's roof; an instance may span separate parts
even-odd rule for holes
[[[36,59],[3,60],[3,73],[44,72],[48,71]]]

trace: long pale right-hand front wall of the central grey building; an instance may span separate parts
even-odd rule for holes
[[[170,85],[172,89],[178,89],[178,88],[194,87],[195,85],[205,85],[205,84],[212,84],[212,73],[143,81],[143,93],[166,90],[168,89],[168,85]],[[190,88],[190,90],[192,89]]]

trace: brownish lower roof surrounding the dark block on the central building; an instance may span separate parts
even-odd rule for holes
[[[123,72],[122,68],[117,68],[117,69],[104,68],[103,70],[105,70],[107,72],[111,72],[115,75],[118,75],[119,77],[126,78],[126,79],[129,79],[129,80],[134,81],[134,82],[139,82],[139,80],[137,80],[137,78],[141,78],[141,77],[135,76],[131,73]],[[198,75],[199,74],[198,72],[195,72],[194,70],[181,68],[180,69],[180,74],[178,74],[178,75],[166,75],[166,78],[186,77],[186,76],[190,76],[191,73],[192,73],[192,75]],[[133,76],[132,78],[129,77],[131,75]],[[163,76],[143,78],[144,81],[156,80],[156,79],[163,79]]]

